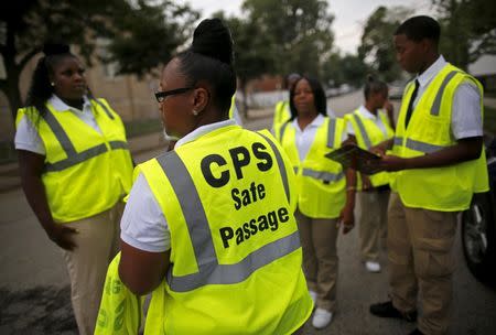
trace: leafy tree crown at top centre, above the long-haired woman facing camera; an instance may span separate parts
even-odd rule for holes
[[[245,0],[242,9],[261,34],[276,62],[274,72],[321,75],[331,55],[334,17],[325,0]]]

